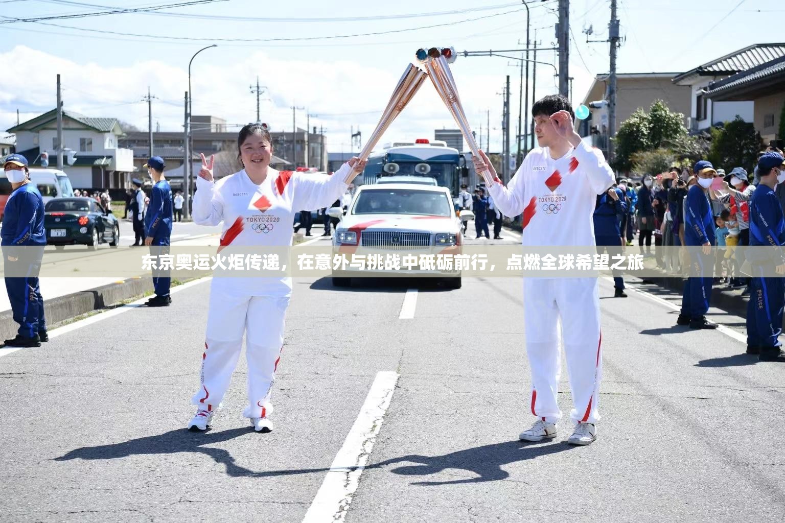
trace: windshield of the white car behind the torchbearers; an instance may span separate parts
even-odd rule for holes
[[[452,205],[450,198],[443,192],[371,189],[357,195],[352,214],[452,216]]]

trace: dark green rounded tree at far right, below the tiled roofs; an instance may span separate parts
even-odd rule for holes
[[[715,169],[720,167],[729,173],[734,167],[743,167],[751,173],[758,160],[763,140],[752,122],[744,122],[740,116],[723,127],[711,129],[709,161]]]

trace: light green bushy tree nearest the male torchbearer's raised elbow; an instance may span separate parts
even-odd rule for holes
[[[687,129],[684,114],[670,111],[663,100],[655,100],[648,112],[638,108],[619,125],[616,133],[615,159],[612,167],[628,172],[633,169],[633,154],[666,147],[668,143],[684,140]]]

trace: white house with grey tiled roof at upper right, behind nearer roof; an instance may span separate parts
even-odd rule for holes
[[[712,82],[745,73],[783,56],[785,43],[754,44],[677,74],[673,78],[674,84],[692,88],[692,111],[688,119],[688,129],[696,133],[712,125],[733,120],[736,115],[746,122],[752,122],[754,102],[751,98],[713,100],[705,91]]]

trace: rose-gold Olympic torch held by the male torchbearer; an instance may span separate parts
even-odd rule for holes
[[[469,150],[472,151],[472,154],[479,157],[480,148],[477,147],[477,142],[474,140],[472,128],[469,125],[469,119],[466,118],[461,99],[458,96],[455,78],[452,77],[450,71],[449,60],[455,60],[455,50],[451,47],[446,47],[444,49],[433,47],[428,49],[428,51],[419,49],[417,58],[425,66],[425,70],[428,71],[431,82],[433,82],[433,87],[436,88],[436,93],[439,93],[439,96],[444,101],[447,109],[452,114],[452,118],[455,118],[455,123],[458,124],[458,128],[461,129],[461,133],[463,134],[466,143],[469,144]],[[491,183],[495,181],[491,176],[491,172],[488,170],[485,170],[480,174],[485,179],[486,185],[491,185]],[[496,179],[496,181],[498,181],[498,179]]]

